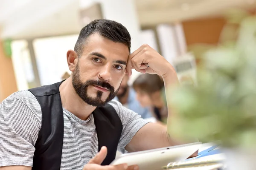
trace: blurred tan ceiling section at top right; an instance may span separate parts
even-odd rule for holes
[[[142,26],[220,16],[227,8],[253,8],[256,0],[136,0]]]

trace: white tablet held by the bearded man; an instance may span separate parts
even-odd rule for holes
[[[201,142],[163,147],[153,150],[125,153],[116,158],[111,165],[138,165],[140,170],[162,170],[170,162],[184,161],[200,147]]]

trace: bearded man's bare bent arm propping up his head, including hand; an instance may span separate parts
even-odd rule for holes
[[[149,67],[147,67],[147,65]],[[169,88],[179,84],[177,74],[172,65],[148,45],[142,45],[129,56],[126,68],[129,76],[131,75],[131,68],[134,68],[141,73],[158,74],[162,76],[166,93],[168,93]],[[168,94],[166,94],[166,101],[167,104],[170,103]],[[172,121],[175,121],[177,117],[173,108],[172,114],[170,114],[170,111],[171,108],[170,105],[168,105],[168,125],[171,125]],[[148,123],[138,130],[131,141],[126,145],[125,149],[134,152],[186,143],[178,141],[168,132],[170,132],[170,130],[168,130],[166,126]],[[193,156],[195,155],[197,155],[197,153]]]

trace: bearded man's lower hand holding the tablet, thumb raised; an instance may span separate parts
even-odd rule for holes
[[[120,164],[116,166],[100,165],[107,156],[107,147],[103,146],[99,153],[91,159],[87,165],[84,166],[83,170],[139,170],[137,165],[129,166],[127,164]]]

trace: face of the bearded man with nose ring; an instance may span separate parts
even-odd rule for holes
[[[72,74],[76,93],[84,102],[96,107],[111,101],[125,75],[128,55],[126,45],[92,34]]]

